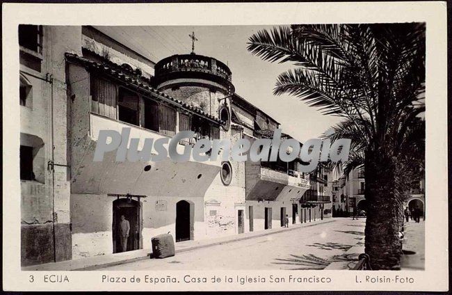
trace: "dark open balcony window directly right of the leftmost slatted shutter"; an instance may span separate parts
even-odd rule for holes
[[[120,87],[118,91],[118,119],[138,126],[138,102],[136,93]]]

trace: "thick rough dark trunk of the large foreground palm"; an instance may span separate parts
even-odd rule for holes
[[[368,205],[365,252],[373,269],[400,269],[398,210],[394,196],[396,164],[387,149],[367,151],[364,177]]]

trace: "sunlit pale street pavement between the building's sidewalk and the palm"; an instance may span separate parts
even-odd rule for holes
[[[296,230],[98,270],[324,269],[331,262],[347,259],[346,251],[364,238],[364,225],[364,218],[331,218]]]

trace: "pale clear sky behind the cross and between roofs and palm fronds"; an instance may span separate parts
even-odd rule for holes
[[[290,63],[269,63],[248,51],[248,38],[273,26],[95,26],[96,29],[157,62],[173,54],[189,54],[193,31],[195,53],[229,65],[236,93],[280,122],[282,131],[300,142],[318,138],[337,116],[323,115],[291,95],[273,95],[277,76],[294,68]]]

